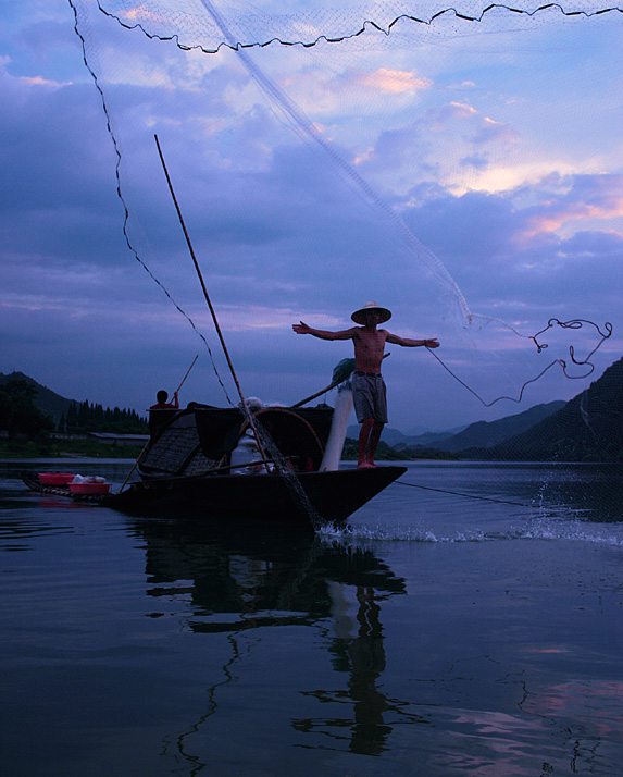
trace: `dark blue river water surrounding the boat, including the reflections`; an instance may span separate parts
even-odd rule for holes
[[[18,479],[130,465],[0,461],[3,777],[623,774],[620,467],[410,462],[309,538]]]

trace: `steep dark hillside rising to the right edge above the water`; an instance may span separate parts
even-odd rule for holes
[[[623,359],[549,417],[499,445],[463,458],[528,461],[623,461]]]

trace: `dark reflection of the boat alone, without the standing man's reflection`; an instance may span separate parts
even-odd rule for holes
[[[370,551],[288,532],[283,525],[133,525],[145,540],[148,595],[155,602],[189,599],[185,624],[192,631],[314,624],[332,616],[339,583],[406,593],[404,581]]]

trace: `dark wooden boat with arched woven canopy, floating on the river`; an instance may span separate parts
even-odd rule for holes
[[[80,495],[80,501],[139,515],[190,511],[307,526],[344,523],[406,467],[323,471],[332,416],[327,406],[254,412],[258,428],[267,432],[266,466],[258,456],[236,462],[241,442],[249,442],[249,422],[237,408],[191,404],[185,410],[153,411],[152,439],[138,464],[140,481],[121,493]],[[68,489],[43,485],[36,473],[22,477],[32,489],[76,498]]]

